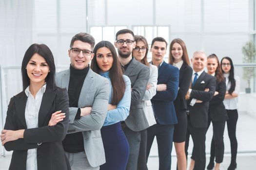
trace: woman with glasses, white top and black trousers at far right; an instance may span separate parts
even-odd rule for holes
[[[240,79],[234,75],[234,65],[231,58],[223,57],[220,64],[222,73],[226,78],[227,87],[223,103],[228,114],[227,128],[231,146],[231,163],[228,167],[228,170],[235,170],[237,153],[236,122],[238,119],[237,97],[240,88]]]

